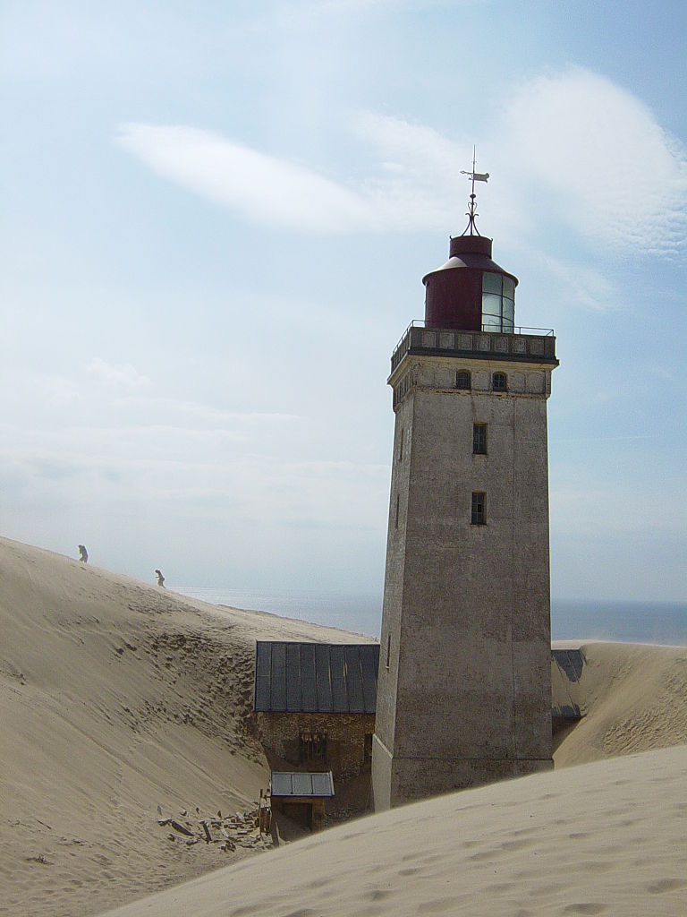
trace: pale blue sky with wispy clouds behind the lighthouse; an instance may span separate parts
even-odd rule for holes
[[[684,601],[687,5],[0,0],[0,535],[381,595],[466,223],[553,328],[551,593]]]

